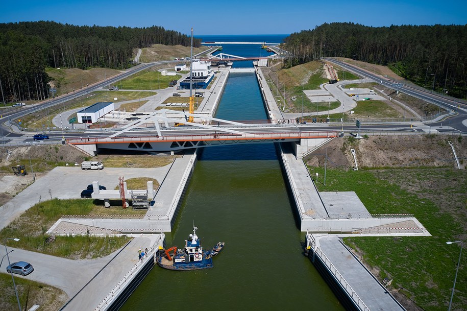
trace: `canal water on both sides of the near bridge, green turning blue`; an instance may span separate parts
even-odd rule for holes
[[[216,116],[266,118],[253,74],[231,75]],[[167,247],[183,246],[193,221],[203,247],[226,242],[214,268],[155,267],[121,310],[344,309],[303,255],[273,144],[206,148]]]

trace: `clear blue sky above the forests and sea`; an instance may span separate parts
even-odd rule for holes
[[[0,22],[54,20],[73,25],[162,26],[195,35],[289,34],[324,22],[366,26],[465,25],[467,0],[336,1],[2,1]]]

